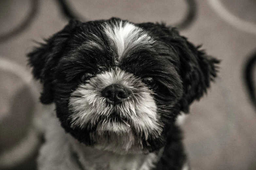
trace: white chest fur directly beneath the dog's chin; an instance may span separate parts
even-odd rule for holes
[[[87,147],[69,137],[78,162],[86,170],[150,170],[159,161],[162,150],[148,154],[118,154]]]

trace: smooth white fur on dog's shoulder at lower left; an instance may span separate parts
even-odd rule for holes
[[[40,170],[81,170],[73,158],[68,134],[52,114],[45,121],[45,143],[38,156]]]

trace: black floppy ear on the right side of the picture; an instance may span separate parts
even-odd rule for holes
[[[180,48],[180,75],[183,81],[184,94],[181,99],[181,110],[189,111],[189,105],[206,93],[210,82],[217,76],[219,60],[206,55],[200,46],[195,47],[188,42]]]

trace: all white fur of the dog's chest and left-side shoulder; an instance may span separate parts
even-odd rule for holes
[[[40,170],[149,170],[162,155],[163,149],[158,153],[120,155],[86,147],[65,133],[56,116],[47,122],[46,142],[38,158]]]

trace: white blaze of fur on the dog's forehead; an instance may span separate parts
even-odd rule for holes
[[[150,46],[155,42],[142,28],[127,21],[116,21],[105,24],[104,32],[111,39],[118,60],[128,54],[130,50],[139,46]]]

